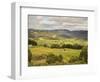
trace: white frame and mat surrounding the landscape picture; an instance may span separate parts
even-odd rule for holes
[[[13,53],[12,53],[12,78],[42,78],[69,75],[82,75],[95,72],[95,61],[93,42],[95,42],[95,9],[68,7],[52,8],[44,5],[34,5],[28,3],[12,4],[12,27],[13,30]],[[40,6],[40,7],[39,7]],[[74,9],[73,9],[74,8]],[[57,15],[57,16],[85,16],[88,17],[89,34],[89,63],[88,65],[64,65],[64,66],[41,66],[27,67],[27,15]],[[14,38],[15,36],[15,38]],[[92,41],[93,42],[92,42]],[[15,50],[14,50],[15,49]],[[15,55],[14,55],[15,54]],[[23,56],[24,54],[24,56]],[[20,61],[22,60],[22,61]]]

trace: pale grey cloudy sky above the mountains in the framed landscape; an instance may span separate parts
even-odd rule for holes
[[[67,29],[67,30],[87,30],[87,17],[70,16],[28,16],[28,28],[32,29]]]

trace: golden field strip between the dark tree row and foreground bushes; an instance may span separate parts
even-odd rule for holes
[[[30,48],[31,52],[33,55],[41,55],[41,54],[49,54],[49,53],[54,53],[56,54],[66,54],[66,55],[79,55],[80,50],[76,50],[76,49],[69,49],[69,48],[65,48],[65,49],[57,49],[57,48],[47,48],[47,47],[31,47]],[[73,55],[73,56],[74,56]]]

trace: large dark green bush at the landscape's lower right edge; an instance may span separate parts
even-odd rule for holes
[[[80,52],[80,60],[84,61],[85,63],[88,62],[88,47],[85,46],[82,48],[81,52]]]

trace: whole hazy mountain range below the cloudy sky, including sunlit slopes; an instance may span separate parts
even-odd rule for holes
[[[37,29],[28,29],[28,37],[64,37],[64,38],[80,38],[87,39],[88,31],[87,30],[74,30],[70,31],[67,29],[53,29],[53,30],[37,30]]]

